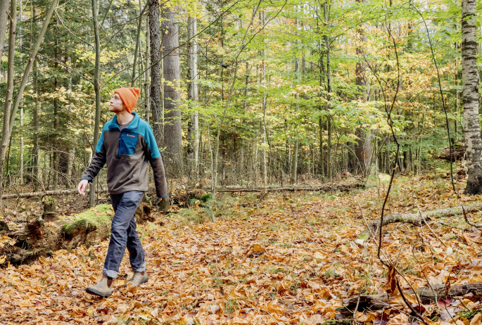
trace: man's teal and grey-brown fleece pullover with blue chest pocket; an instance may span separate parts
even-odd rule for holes
[[[148,163],[151,163],[157,196],[164,198],[167,196],[167,181],[151,125],[137,113],[132,115],[134,119],[122,131],[117,115],[103,126],[96,153],[82,179],[91,182],[107,164],[110,194],[147,191]]]

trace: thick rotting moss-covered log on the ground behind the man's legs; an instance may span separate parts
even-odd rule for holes
[[[142,202],[136,211],[136,221],[153,221],[150,204]],[[70,250],[79,246],[94,246],[110,237],[114,212],[110,205],[96,205],[78,215],[51,221],[41,216],[27,220],[24,229],[7,232],[13,241],[2,243],[1,265],[11,262],[24,264],[38,257],[51,255],[56,250]]]

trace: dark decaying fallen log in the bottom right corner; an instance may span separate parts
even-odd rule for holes
[[[417,293],[421,300],[421,303],[428,304],[431,302],[436,302],[436,298],[441,300],[445,296],[445,284],[433,284],[432,286],[424,286],[422,288],[415,289],[415,292],[410,290],[404,290],[404,293],[413,295]],[[451,286],[448,291],[449,297],[462,296],[467,293],[473,293],[475,296],[482,295],[482,282],[473,282],[462,284],[459,286]],[[360,295],[352,298],[343,299],[343,307],[338,308],[338,312],[342,314],[349,314],[353,316],[353,310],[357,305],[358,298],[360,298],[360,303],[358,305],[358,311],[362,310],[382,310],[386,308],[395,299],[395,296],[388,297],[386,293],[379,295]]]

